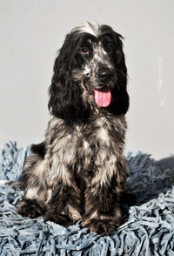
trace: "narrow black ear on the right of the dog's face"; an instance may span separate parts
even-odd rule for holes
[[[117,82],[112,95],[114,100],[111,102],[109,108],[115,115],[125,114],[129,109],[129,95],[127,92],[127,68],[125,64],[125,57],[123,51],[123,39],[117,32],[112,32],[115,41],[115,56],[114,63],[117,73]]]

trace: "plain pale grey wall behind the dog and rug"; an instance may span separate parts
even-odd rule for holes
[[[0,147],[43,140],[57,50],[88,20],[109,24],[125,38],[126,151],[173,155],[173,0],[0,0]]]

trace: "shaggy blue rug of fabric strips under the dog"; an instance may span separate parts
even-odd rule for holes
[[[30,148],[10,142],[0,151],[0,179],[17,180]],[[17,215],[23,192],[0,185],[0,255],[174,255],[174,170],[166,170],[148,155],[125,155],[128,183],[137,205],[124,205],[124,224],[111,237],[81,229],[80,221],[65,228],[43,218]]]

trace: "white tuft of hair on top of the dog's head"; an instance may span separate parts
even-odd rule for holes
[[[79,31],[81,33],[89,33],[97,37],[99,33],[99,25],[96,22],[91,21],[91,22],[82,24],[81,26],[71,30],[71,32],[74,32],[74,31]]]

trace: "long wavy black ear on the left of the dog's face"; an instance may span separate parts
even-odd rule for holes
[[[73,51],[76,35],[69,34],[60,49],[54,64],[54,74],[49,88],[50,113],[63,119],[77,118],[82,109],[81,88],[71,79],[71,64],[74,63]]]

